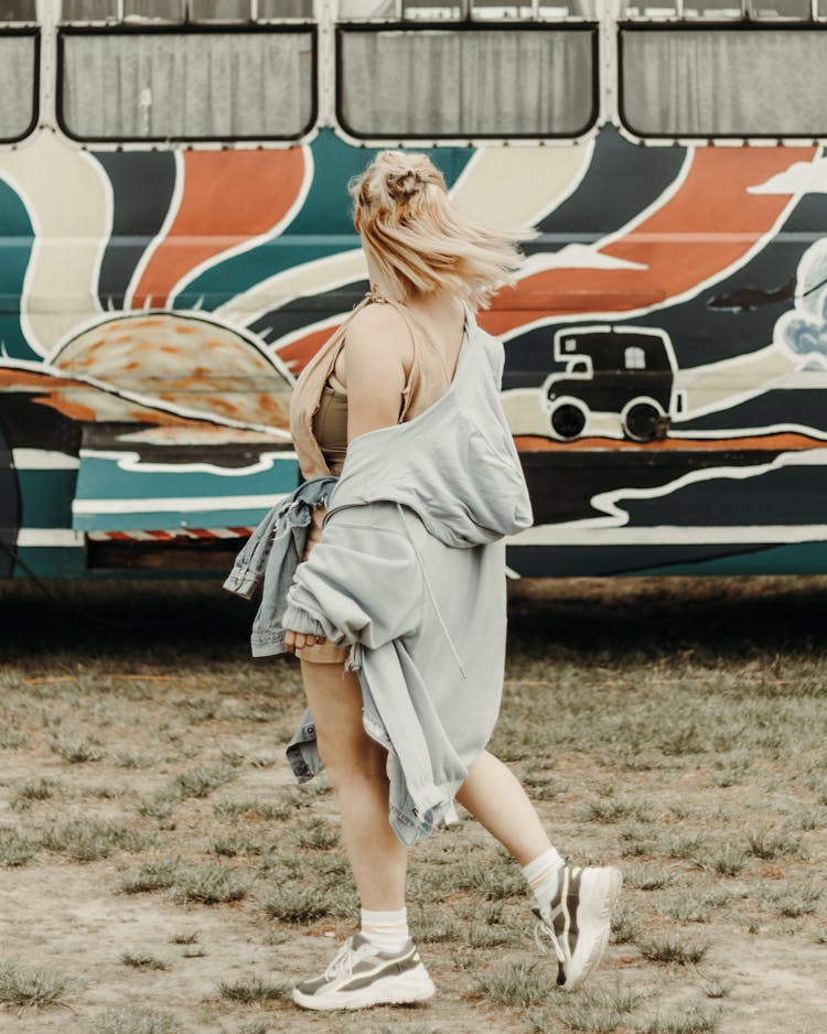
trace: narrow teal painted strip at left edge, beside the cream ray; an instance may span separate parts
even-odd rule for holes
[[[0,363],[40,359],[25,340],[20,322],[20,298],[32,254],[33,229],[22,198],[0,179]]]

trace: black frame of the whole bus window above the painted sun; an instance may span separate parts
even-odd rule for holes
[[[82,137],[73,132],[64,118],[64,72],[65,72],[65,40],[69,36],[146,36],[146,35],[297,35],[310,36],[311,53],[311,82],[310,82],[310,112],[308,120],[299,133],[293,136],[267,137],[262,133],[251,136],[170,136],[170,137]],[[61,132],[75,143],[83,146],[117,147],[121,143],[144,144],[147,147],[211,144],[213,147],[226,144],[233,147],[255,143],[281,143],[297,146],[315,133],[319,119],[319,25],[314,22],[287,22],[275,24],[245,24],[227,29],[226,25],[204,24],[203,22],[164,25],[111,25],[87,26],[79,24],[61,25],[57,29],[57,61],[55,83],[55,121]]]

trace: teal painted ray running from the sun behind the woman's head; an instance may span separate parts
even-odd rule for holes
[[[249,251],[207,269],[175,298],[174,309],[200,305],[212,311],[276,273],[359,247],[351,220],[347,182],[362,172],[380,148],[356,148],[323,129],[310,146],[313,180],[310,191],[284,233]],[[471,160],[472,148],[423,148],[450,187]],[[239,184],[244,189],[244,184]],[[319,235],[319,227],[325,233]],[[331,236],[334,238],[331,240]]]

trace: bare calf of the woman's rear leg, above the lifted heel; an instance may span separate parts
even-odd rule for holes
[[[469,767],[457,799],[520,865],[548,851],[551,843],[523,785],[487,751]]]

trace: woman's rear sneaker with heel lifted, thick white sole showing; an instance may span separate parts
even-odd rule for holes
[[[600,962],[622,882],[619,869],[563,865],[554,900],[534,909],[537,946],[546,950],[544,936],[554,945],[557,983],[563,991],[573,991]]]

